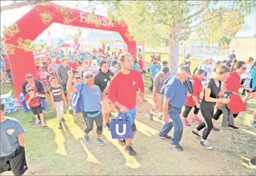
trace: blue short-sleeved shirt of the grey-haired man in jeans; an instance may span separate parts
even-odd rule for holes
[[[182,108],[187,100],[187,89],[177,75],[173,76],[166,84],[165,97],[170,99],[169,104],[176,108]]]

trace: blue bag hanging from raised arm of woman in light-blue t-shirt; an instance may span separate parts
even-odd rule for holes
[[[83,91],[84,83],[82,83],[83,86],[79,92],[73,92],[72,98],[71,98],[71,107],[77,112],[82,113],[84,111],[84,103],[81,96],[81,92]]]

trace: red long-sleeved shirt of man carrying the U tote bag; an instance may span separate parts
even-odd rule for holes
[[[113,103],[118,101],[130,110],[136,106],[137,88],[140,88],[142,93],[145,92],[143,79],[137,70],[131,70],[128,75],[118,72],[110,82],[108,98]]]

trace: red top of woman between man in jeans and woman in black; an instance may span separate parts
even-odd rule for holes
[[[195,105],[195,101],[193,100],[192,96],[197,97],[197,101],[199,102],[200,93],[203,90],[202,81],[198,79],[197,76],[192,76],[190,79],[192,83],[193,93],[190,97],[187,97],[187,101],[185,103],[186,106],[193,107]]]

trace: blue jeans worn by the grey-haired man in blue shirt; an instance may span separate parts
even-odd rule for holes
[[[171,108],[168,110],[168,115],[170,117],[170,122],[166,122],[160,131],[160,135],[167,135],[172,127],[174,126],[173,137],[171,139],[172,144],[179,144],[183,134],[183,124],[179,117],[181,113],[181,108]]]

